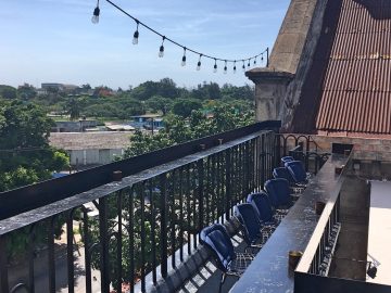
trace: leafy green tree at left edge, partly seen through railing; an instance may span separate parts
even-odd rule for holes
[[[0,192],[51,178],[52,171],[70,165],[65,153],[49,146],[53,122],[34,104],[0,100]],[[56,225],[56,235],[62,222]],[[36,227],[36,243],[46,229]],[[15,231],[8,242],[10,262],[27,251],[26,231]]]

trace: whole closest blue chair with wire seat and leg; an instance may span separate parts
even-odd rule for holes
[[[202,229],[200,239],[201,243],[212,252],[217,268],[222,270],[218,292],[222,292],[226,276],[240,277],[251,260],[254,259],[254,255],[252,254],[235,252],[228,232],[220,224],[213,224]]]

